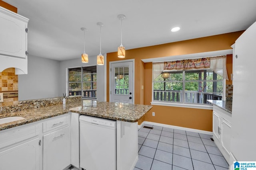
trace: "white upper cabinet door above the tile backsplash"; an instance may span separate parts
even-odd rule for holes
[[[0,55],[26,58],[27,23],[0,12]]]

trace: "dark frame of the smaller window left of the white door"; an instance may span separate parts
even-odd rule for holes
[[[92,67],[95,66],[96,67],[96,72],[92,72],[91,74],[91,80],[92,81],[83,81],[83,75],[84,75],[84,68],[86,67]],[[90,100],[97,100],[97,66],[96,65],[92,65],[92,66],[78,66],[78,67],[71,67],[68,68],[68,96],[81,96],[83,99],[90,99]],[[81,69],[81,81],[78,82],[70,82],[69,81],[69,77],[70,77],[70,69],[74,69],[74,68],[80,68]],[[93,80],[93,74],[96,74],[96,80]],[[94,87],[94,82],[96,82],[96,89],[93,89]],[[81,95],[70,95],[70,83],[81,83],[81,90],[80,93]],[[83,84],[84,83],[91,83],[91,91],[95,91],[94,94],[96,95],[96,97],[88,97],[88,96],[84,96],[84,89],[83,89]]]

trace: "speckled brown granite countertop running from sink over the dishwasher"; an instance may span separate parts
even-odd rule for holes
[[[70,102],[65,105],[40,107],[26,109],[11,113],[2,113],[0,118],[10,116],[21,116],[25,119],[0,124],[0,130],[9,129],[19,125],[40,121],[50,117],[62,115],[68,112],[80,113],[94,117],[102,117],[112,120],[137,122],[152,106],[137,104],[122,104],[114,102],[97,102],[93,100],[82,100],[82,102]]]

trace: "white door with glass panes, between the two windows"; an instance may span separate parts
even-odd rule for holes
[[[133,62],[110,63],[110,102],[134,103]]]

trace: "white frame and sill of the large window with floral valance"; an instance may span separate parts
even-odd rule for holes
[[[200,69],[200,70],[210,70],[210,69]],[[176,81],[158,81],[158,82],[182,82],[182,96],[185,96],[185,84],[186,82],[222,82],[222,99],[225,98],[226,93],[226,79],[222,80],[186,80],[185,78],[185,72],[190,70],[172,70],[170,72],[181,72],[182,71],[182,80],[176,80]],[[193,71],[193,69],[191,70]],[[152,69],[152,72],[154,70]],[[215,73],[216,74],[216,73]],[[185,102],[185,98],[182,98],[182,102],[172,102],[172,101],[164,101],[164,100],[154,100],[154,81],[152,79],[152,105],[158,105],[158,106],[175,106],[175,107],[188,107],[188,108],[198,108],[198,109],[212,109],[212,104],[201,104],[201,103],[188,103]],[[213,90],[212,90],[213,91]],[[207,93],[207,92],[199,92],[199,93]],[[209,93],[209,92],[208,92]],[[218,93],[218,92],[211,92],[211,93]]]

